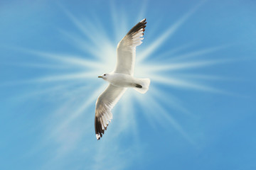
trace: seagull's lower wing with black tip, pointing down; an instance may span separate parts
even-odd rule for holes
[[[109,85],[105,91],[100,94],[96,101],[95,108],[95,134],[97,140],[100,140],[102,134],[107,130],[107,125],[112,120],[111,110],[122,97],[126,88]]]

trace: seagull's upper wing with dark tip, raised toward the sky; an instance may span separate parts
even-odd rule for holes
[[[134,74],[136,47],[142,44],[146,18],[134,26],[117,45],[116,73]]]

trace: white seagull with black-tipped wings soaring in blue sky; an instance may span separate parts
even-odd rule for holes
[[[133,88],[141,94],[145,94],[149,89],[150,79],[133,77],[136,47],[142,44],[145,27],[146,18],[129,30],[117,45],[117,64],[114,71],[99,76],[108,81],[109,86],[96,101],[95,134],[97,140],[100,140],[107,130],[107,126],[112,120],[111,110],[127,88]]]

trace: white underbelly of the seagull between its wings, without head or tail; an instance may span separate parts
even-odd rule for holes
[[[134,77],[128,74],[115,74],[112,79],[110,79],[110,84],[119,87],[133,87],[136,80]]]

